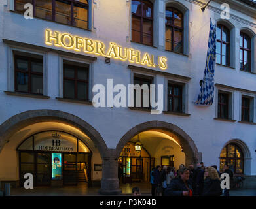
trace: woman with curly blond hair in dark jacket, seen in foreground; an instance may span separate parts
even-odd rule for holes
[[[213,167],[207,167],[204,172],[203,196],[221,196],[221,179],[217,170]]]

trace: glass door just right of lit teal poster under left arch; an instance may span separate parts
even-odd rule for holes
[[[77,154],[63,153],[63,184],[77,185]]]

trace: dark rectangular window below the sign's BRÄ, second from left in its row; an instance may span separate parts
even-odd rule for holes
[[[88,101],[88,67],[64,63],[64,98]]]

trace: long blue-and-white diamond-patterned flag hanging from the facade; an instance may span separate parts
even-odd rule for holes
[[[204,79],[200,82],[200,93],[196,105],[212,105],[214,95],[214,69],[216,63],[216,24],[210,20],[210,33]]]

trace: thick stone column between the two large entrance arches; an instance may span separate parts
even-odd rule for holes
[[[118,157],[110,156],[102,159],[101,195],[119,195]]]

